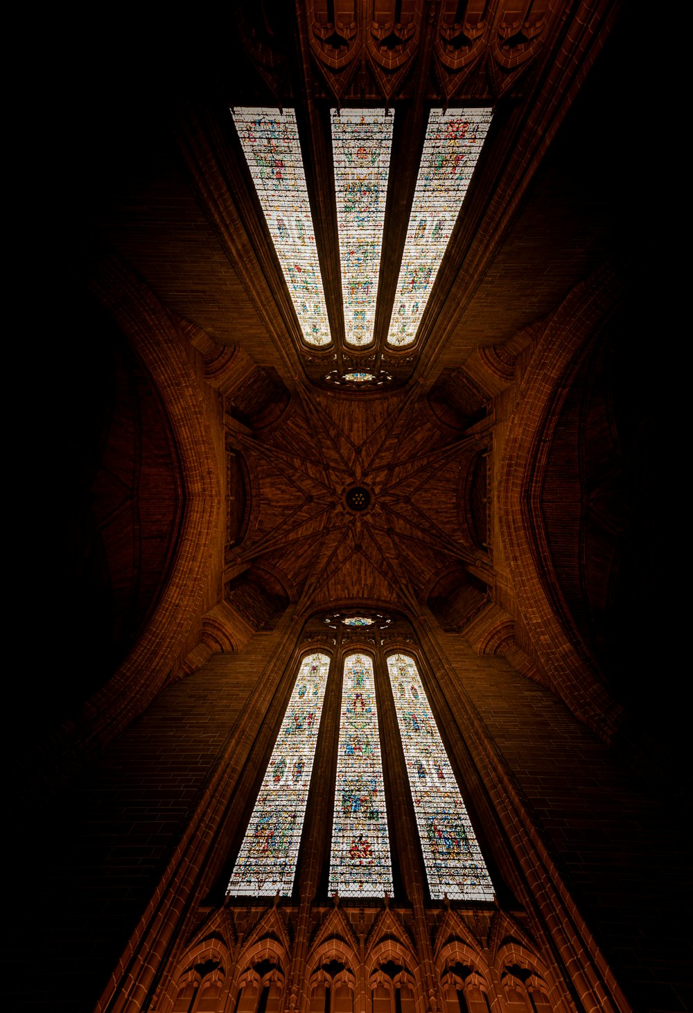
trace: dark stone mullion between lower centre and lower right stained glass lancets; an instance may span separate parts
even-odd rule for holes
[[[442,1008],[442,1003],[426,918],[428,895],[426,870],[420,849],[416,846],[418,828],[404,763],[397,713],[382,649],[378,652],[376,671],[376,687],[380,690],[378,712],[383,747],[383,773],[388,796],[387,812],[390,826],[395,829],[395,834],[390,834],[390,842],[392,844],[394,839],[397,843],[399,868],[404,888],[413,908],[416,945],[422,971],[419,981],[421,1002],[426,1004],[425,1008],[435,1010]]]

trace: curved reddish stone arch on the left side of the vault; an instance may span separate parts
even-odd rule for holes
[[[185,506],[168,578],[137,643],[77,719],[54,737],[47,770],[56,781],[103,749],[166,685],[187,629],[200,627],[222,506],[215,434],[180,327],[114,255],[97,261],[90,282],[94,295],[127,334],[161,399],[178,457]]]

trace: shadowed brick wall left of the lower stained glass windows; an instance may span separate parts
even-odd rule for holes
[[[20,1008],[93,1009],[276,643],[259,634],[242,657],[213,656],[135,720],[59,806],[15,828]]]

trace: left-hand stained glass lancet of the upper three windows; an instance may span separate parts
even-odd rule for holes
[[[231,110],[270,235],[309,344],[331,340],[296,113]]]

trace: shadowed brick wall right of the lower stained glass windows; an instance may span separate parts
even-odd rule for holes
[[[634,1009],[692,1008],[683,814],[548,690],[459,636],[440,640]]]

